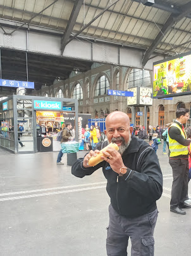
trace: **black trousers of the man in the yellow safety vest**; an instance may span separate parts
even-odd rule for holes
[[[178,206],[188,199],[188,159],[169,158],[169,165],[173,169],[170,205]]]

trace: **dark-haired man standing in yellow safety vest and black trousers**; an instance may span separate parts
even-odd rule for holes
[[[182,208],[191,208],[188,198],[188,145],[187,135],[183,124],[189,119],[189,110],[180,108],[176,111],[176,120],[168,128],[169,165],[173,170],[170,211],[186,214]]]

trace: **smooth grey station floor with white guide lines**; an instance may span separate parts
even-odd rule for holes
[[[70,166],[56,165],[57,155],[15,155],[0,149],[0,255],[106,255],[106,180],[101,170],[83,179],[74,177]],[[157,155],[164,190],[157,201],[155,255],[187,256],[191,209],[183,216],[169,212],[171,168],[161,146]]]

